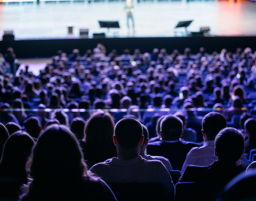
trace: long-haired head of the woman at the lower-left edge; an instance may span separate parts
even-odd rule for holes
[[[13,133],[6,141],[0,162],[1,175],[26,179],[25,164],[35,141],[25,131]]]

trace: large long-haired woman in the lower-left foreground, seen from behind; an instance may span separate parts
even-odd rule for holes
[[[87,171],[78,140],[64,125],[42,133],[27,162],[22,201],[116,200],[108,185]]]

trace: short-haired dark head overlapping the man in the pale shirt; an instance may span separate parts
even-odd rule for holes
[[[235,128],[222,129],[217,134],[214,143],[221,161],[236,163],[244,153],[244,137]]]

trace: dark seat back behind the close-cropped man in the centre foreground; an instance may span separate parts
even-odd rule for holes
[[[108,183],[118,201],[165,200],[160,183]]]

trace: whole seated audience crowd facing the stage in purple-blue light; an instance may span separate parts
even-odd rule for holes
[[[98,44],[59,50],[39,76],[17,65],[12,48],[0,54],[0,198],[119,200],[113,183],[158,183],[173,200],[174,172],[224,187],[255,168],[250,48],[119,55]]]

